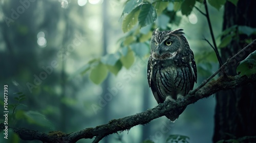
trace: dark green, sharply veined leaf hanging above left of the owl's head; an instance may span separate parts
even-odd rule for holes
[[[139,14],[139,24],[141,27],[150,25],[157,19],[157,12],[154,6],[150,3],[145,3],[141,7]]]

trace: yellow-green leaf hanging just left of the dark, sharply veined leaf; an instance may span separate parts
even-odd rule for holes
[[[124,17],[122,23],[122,30],[124,33],[130,31],[137,24],[139,13],[140,9],[136,8]]]

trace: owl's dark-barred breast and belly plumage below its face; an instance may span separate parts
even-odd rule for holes
[[[155,84],[157,94],[164,101],[168,96],[177,100],[186,96],[194,81],[191,68],[174,60],[152,59],[152,84]],[[193,84],[193,85],[192,85]]]

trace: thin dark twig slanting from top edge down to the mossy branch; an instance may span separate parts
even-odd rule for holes
[[[221,60],[220,54],[218,52],[217,44],[216,44],[215,37],[214,37],[214,32],[212,31],[212,27],[211,27],[210,16],[209,16],[209,11],[208,11],[206,0],[204,0],[204,7],[205,7],[205,12],[206,12],[205,16],[207,18],[209,29],[210,29],[210,35],[211,35],[212,42],[214,43],[214,47],[215,47],[215,51],[216,51],[216,56],[218,58],[220,65],[222,66],[222,60]],[[226,75],[225,73],[223,73],[223,74]]]

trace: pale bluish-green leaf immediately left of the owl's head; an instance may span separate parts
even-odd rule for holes
[[[146,54],[150,53],[150,49],[145,43],[134,43],[131,45],[131,49],[139,57],[143,57]]]

